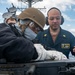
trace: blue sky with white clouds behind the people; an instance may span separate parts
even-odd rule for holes
[[[12,7],[11,3],[13,3],[16,8],[18,8],[16,12],[17,15],[22,11],[19,8],[25,9],[28,7],[27,3],[20,2],[18,0],[0,0],[0,23],[4,21],[2,14],[7,12],[7,8]],[[40,8],[45,16],[47,16],[47,11],[51,7],[59,8],[62,16],[64,17],[64,23],[61,25],[61,27],[75,35],[75,0],[43,0],[41,2],[32,3],[32,7]],[[44,29],[47,28],[47,26],[44,27]]]

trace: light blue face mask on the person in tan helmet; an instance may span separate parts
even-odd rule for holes
[[[29,27],[27,27],[24,31],[24,35],[26,38],[33,40],[37,34],[35,32],[33,32]]]

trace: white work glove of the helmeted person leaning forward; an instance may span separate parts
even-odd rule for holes
[[[55,50],[46,50],[41,44],[34,44],[36,51],[38,53],[38,58],[35,60],[64,60],[67,57]]]

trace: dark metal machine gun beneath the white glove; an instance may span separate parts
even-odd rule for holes
[[[75,75],[75,61],[36,61],[0,64],[0,75]]]

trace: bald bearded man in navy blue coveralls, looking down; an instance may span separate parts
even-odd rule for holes
[[[74,55],[75,37],[69,31],[63,30],[61,25],[61,12],[58,8],[51,8],[48,11],[48,22],[50,27],[43,32],[39,32],[36,39],[45,48],[54,48],[64,53],[69,58],[70,51]],[[54,34],[54,35],[53,35]]]

